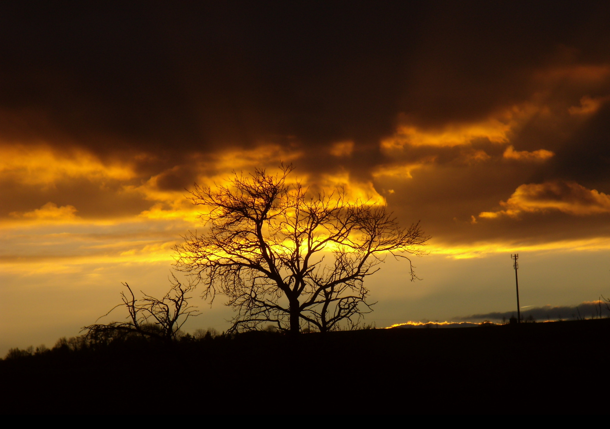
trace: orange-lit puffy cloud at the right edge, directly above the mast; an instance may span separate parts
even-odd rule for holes
[[[570,215],[586,216],[610,213],[610,195],[587,189],[576,182],[552,181],[519,186],[497,212],[481,212],[479,217],[519,217],[523,212],[560,211]]]

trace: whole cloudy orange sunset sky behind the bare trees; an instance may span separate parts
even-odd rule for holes
[[[511,253],[523,307],[609,297],[593,4],[3,3],[0,355],[78,334],[121,281],[162,294],[202,228],[187,190],[280,162],[432,236],[421,281],[367,279],[378,327],[516,310]],[[193,302],[187,331],[228,328]]]

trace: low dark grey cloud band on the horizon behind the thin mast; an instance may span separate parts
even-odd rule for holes
[[[472,314],[465,317],[454,317],[456,320],[502,320],[517,317],[516,311],[491,312],[486,314]],[[559,320],[559,319],[596,319],[598,317],[610,317],[610,310],[604,301],[585,301],[577,306],[550,306],[534,307],[521,310],[521,317],[534,320]]]

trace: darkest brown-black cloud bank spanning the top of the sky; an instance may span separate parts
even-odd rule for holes
[[[2,9],[0,103],[26,118],[7,133],[169,153],[273,135],[376,143],[400,112],[477,117],[528,96],[522,69],[561,43],[595,59],[590,37],[605,22],[586,7],[483,3]]]

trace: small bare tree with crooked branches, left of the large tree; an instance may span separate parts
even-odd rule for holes
[[[96,339],[109,334],[134,333],[163,341],[176,340],[180,328],[188,317],[199,313],[194,306],[188,305],[191,297],[187,295],[195,289],[195,285],[193,283],[183,285],[174,275],[170,282],[171,288],[163,298],[154,298],[142,292],[143,298],[140,300],[135,299],[129,284],[122,283],[129,290],[129,296],[125,292],[121,292],[123,303],[114,306],[102,317],[109,315],[118,307],[125,307],[129,312],[128,321],[85,326],[83,330],[87,330],[86,337]]]

